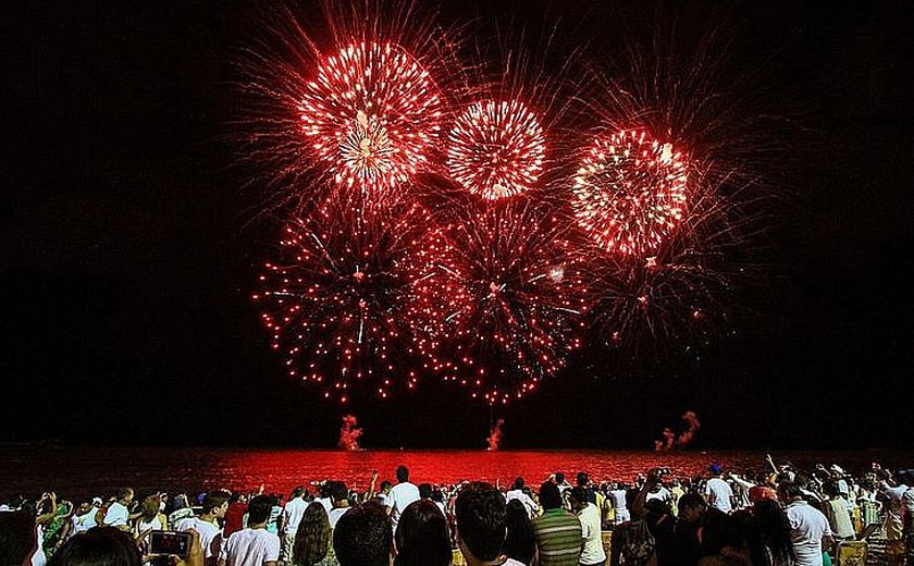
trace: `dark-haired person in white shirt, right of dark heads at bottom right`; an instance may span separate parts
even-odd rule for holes
[[[781,482],[778,496],[787,505],[796,566],[822,566],[823,553],[831,546],[828,519],[803,499],[803,490],[796,483]]]

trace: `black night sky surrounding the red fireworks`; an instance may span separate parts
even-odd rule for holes
[[[598,51],[614,14],[672,10],[593,4],[454,2],[444,19],[560,16],[580,34],[565,45],[585,37]],[[767,238],[770,280],[733,299],[753,316],[697,359],[625,371],[572,361],[498,411],[506,446],[649,447],[687,409],[705,446],[914,441],[905,2],[729,11],[741,52],[771,56],[771,107],[783,97],[803,133]],[[249,299],[275,226],[249,222],[258,199],[224,134],[233,53],[254,13],[246,2],[4,3],[0,441],[335,442],[341,408],[284,376]],[[687,34],[701,33],[694,20],[683,16]],[[755,64],[732,62],[743,63]],[[464,398],[429,386],[353,410],[368,446],[479,446],[489,409]]]

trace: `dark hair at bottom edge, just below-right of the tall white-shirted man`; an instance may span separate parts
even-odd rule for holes
[[[447,519],[434,502],[410,503],[397,522],[395,566],[448,566],[453,554]]]

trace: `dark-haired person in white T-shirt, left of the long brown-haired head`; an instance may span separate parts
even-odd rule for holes
[[[232,533],[219,556],[219,566],[276,566],[280,538],[267,531],[273,499],[257,495],[248,503],[247,528]]]

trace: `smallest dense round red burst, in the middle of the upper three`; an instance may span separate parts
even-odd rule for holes
[[[454,123],[447,143],[450,176],[489,200],[531,189],[543,172],[543,127],[519,100],[470,104]]]

